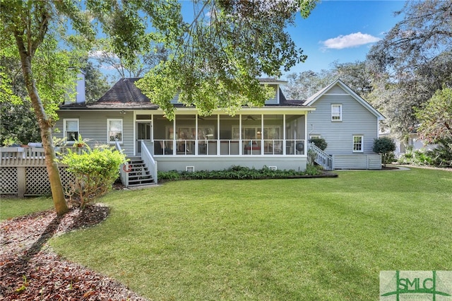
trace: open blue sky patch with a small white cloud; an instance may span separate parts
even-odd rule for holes
[[[296,26],[287,28],[297,47],[308,56],[307,61],[287,73],[330,69],[333,61],[363,61],[374,42],[402,19],[393,12],[400,11],[404,4],[405,1],[321,1],[307,19],[297,16]]]

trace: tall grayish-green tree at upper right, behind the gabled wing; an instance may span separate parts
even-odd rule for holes
[[[403,20],[371,48],[374,105],[394,133],[415,129],[415,109],[443,84],[452,84],[451,1],[407,1]]]

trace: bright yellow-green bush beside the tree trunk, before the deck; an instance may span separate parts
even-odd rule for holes
[[[119,177],[119,166],[125,162],[125,155],[112,148],[88,148],[81,154],[69,151],[61,159],[75,177],[66,189],[66,195],[74,206],[85,207],[102,194],[112,189]]]

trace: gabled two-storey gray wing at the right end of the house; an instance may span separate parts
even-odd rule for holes
[[[384,117],[343,81],[334,81],[304,105],[316,109],[309,113],[308,137],[326,140],[335,169],[381,169],[381,157],[372,148]]]

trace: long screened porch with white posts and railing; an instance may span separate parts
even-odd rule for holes
[[[304,114],[177,114],[136,115],[138,140],[149,136],[153,155],[304,155],[307,151]],[[148,134],[140,132],[148,131]]]

